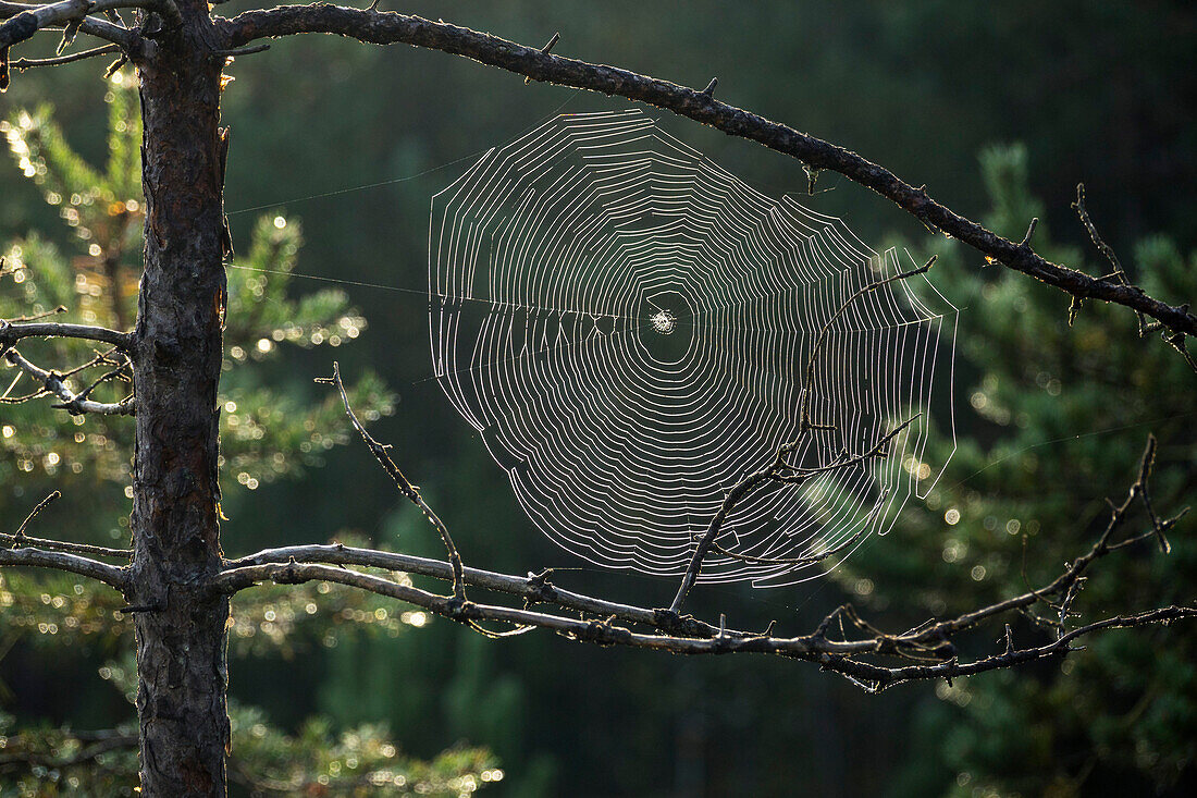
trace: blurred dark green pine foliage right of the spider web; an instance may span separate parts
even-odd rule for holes
[[[982,169],[992,202],[986,226],[1020,238],[1028,219],[1045,214],[1026,150],[989,149]],[[1084,240],[1075,217],[1064,222],[1076,224],[1070,240]],[[1034,247],[1089,273],[1110,270],[1092,249],[1058,243],[1045,224]],[[925,506],[907,506],[893,532],[834,576],[862,607],[944,616],[1044,584],[1092,545],[1108,519],[1104,491],[1134,478],[1148,431],[1161,441],[1153,500],[1184,507],[1195,486],[1197,413],[1187,391],[1168,389],[1191,382],[1189,367],[1154,335],[1138,338],[1134,316],[1087,303],[1070,325],[1058,292],[1008,270],[977,279],[977,255],[952,241],[926,249],[916,259],[940,255],[936,286],[962,308],[959,448]],[[1123,261],[1146,290],[1197,294],[1197,253],[1185,258],[1165,237],[1141,242]],[[944,431],[924,459],[949,454]],[[1191,601],[1192,528],[1189,519],[1177,527],[1168,556],[1144,543],[1104,560],[1075,610],[1093,619],[1111,607]],[[1015,623],[1015,640],[1046,641],[1047,622],[1058,621],[1050,616],[1040,606]],[[1001,643],[973,645],[977,653]],[[940,684],[937,706],[924,707],[919,721],[936,756],[909,764],[897,792],[929,794],[923,779],[941,768],[956,774],[950,794],[960,798],[1039,794],[1045,786],[1056,797],[1090,794],[1096,781],[1125,784],[1128,794],[1171,788],[1197,757],[1195,661],[1191,636],[1113,634],[1051,666]]]

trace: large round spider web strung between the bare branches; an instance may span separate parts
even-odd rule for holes
[[[938,478],[923,457],[956,308],[917,277],[928,298],[894,280],[838,313],[899,272],[893,250],[764,197],[642,111],[563,115],[433,198],[435,376],[539,530],[657,575],[685,572],[727,491],[800,440],[808,363],[810,417],[830,428],[801,436],[796,465],[920,413],[885,458],[751,492],[700,576],[794,584],[827,567],[727,552],[846,554]]]

